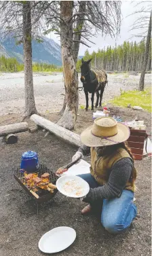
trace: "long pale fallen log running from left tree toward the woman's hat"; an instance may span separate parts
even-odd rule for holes
[[[45,130],[50,131],[51,133],[58,136],[60,139],[71,143],[72,145],[81,146],[80,136],[79,134],[76,134],[74,132],[71,132],[70,130],[67,130],[65,128],[62,128],[61,126],[58,126],[58,124],[54,124],[49,120],[46,120],[45,118],[39,116],[39,115],[31,115],[31,120],[35,122],[38,126],[43,127]]]

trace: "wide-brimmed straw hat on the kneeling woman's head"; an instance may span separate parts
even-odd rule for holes
[[[88,147],[102,147],[127,141],[129,136],[128,126],[117,123],[112,117],[100,117],[81,133],[81,142]]]

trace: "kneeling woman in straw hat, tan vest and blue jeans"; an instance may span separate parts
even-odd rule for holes
[[[101,117],[81,133],[80,147],[73,160],[91,153],[90,173],[79,175],[90,185],[88,202],[81,213],[90,213],[100,208],[101,223],[112,234],[124,232],[136,217],[134,182],[136,169],[125,141],[130,136],[127,126],[111,117]]]

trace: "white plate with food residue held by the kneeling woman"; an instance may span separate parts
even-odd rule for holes
[[[56,187],[64,196],[81,198],[90,191],[89,184],[78,176],[62,176],[56,181]]]

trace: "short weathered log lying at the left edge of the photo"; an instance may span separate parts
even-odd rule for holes
[[[26,130],[28,130],[27,122],[22,122],[18,124],[8,124],[7,126],[0,126],[0,136],[24,132]]]

